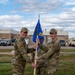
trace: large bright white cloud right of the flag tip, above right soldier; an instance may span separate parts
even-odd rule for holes
[[[72,11],[71,11],[72,12]],[[59,30],[64,30],[69,32],[70,37],[75,37],[75,14],[67,12],[62,12],[60,14],[51,14],[48,16],[42,17],[42,25],[44,26],[44,29],[51,29],[56,28]]]

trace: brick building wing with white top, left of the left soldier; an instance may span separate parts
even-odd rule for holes
[[[10,39],[18,38],[19,32],[15,31],[13,29],[7,28],[7,29],[0,29],[0,40],[1,39]]]

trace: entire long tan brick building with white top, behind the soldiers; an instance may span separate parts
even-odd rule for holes
[[[57,33],[58,33],[57,34],[58,40],[65,40],[65,41],[68,40],[68,32],[63,30],[57,30]],[[44,35],[44,44],[46,44],[51,40],[51,38],[49,37],[49,31],[44,30],[43,35]],[[34,44],[34,42],[32,41],[32,36],[33,36],[33,31],[29,31],[27,36],[27,38],[29,39],[29,44]],[[18,37],[19,37],[18,31],[15,31],[13,29],[0,29],[0,39],[5,38],[12,40],[13,38],[18,38]]]

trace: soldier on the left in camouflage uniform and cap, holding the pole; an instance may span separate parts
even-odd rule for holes
[[[13,75],[24,75],[24,68],[26,62],[31,62],[28,53],[33,52],[34,48],[26,46],[25,37],[27,36],[28,29],[23,27],[20,32],[20,38],[15,42],[15,54],[13,56]]]

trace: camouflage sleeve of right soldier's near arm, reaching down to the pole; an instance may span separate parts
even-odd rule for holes
[[[56,45],[52,45],[51,48],[49,48],[49,50],[46,53],[44,53],[43,55],[38,57],[38,59],[51,57],[59,49],[60,49],[60,47],[59,47],[58,43]]]

